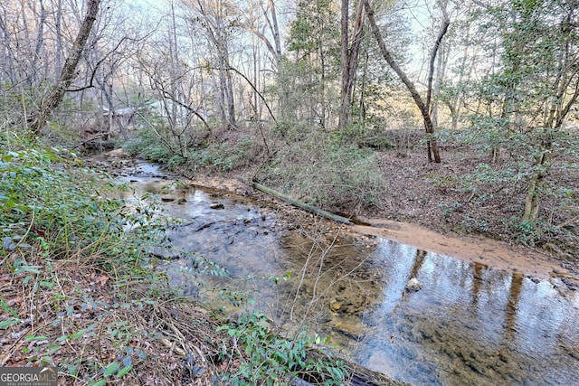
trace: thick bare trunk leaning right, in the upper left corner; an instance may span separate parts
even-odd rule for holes
[[[81,29],[72,44],[71,53],[64,62],[64,67],[62,68],[59,80],[52,87],[48,96],[43,99],[38,110],[27,118],[29,128],[33,135],[40,134],[40,131],[46,124],[46,119],[49,118],[52,110],[61,103],[66,89],[71,86],[72,80],[76,77],[76,67],[79,64],[79,61],[81,61],[82,51],[84,50],[86,42],[89,40],[92,24],[94,24],[97,19],[97,14],[99,14],[99,5],[100,0],[89,0],[87,12],[81,24]]]

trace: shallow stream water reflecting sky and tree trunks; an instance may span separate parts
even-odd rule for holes
[[[149,191],[166,184],[149,174],[130,179]],[[167,213],[184,219],[170,232],[174,245],[222,264],[233,278],[252,276],[235,286],[254,290],[256,307],[280,325],[307,320],[372,370],[423,385],[579,380],[579,297],[556,279],[532,280],[390,240],[367,248],[341,240],[337,230],[324,238],[280,233],[278,216],[251,202],[199,189],[170,194]],[[211,209],[215,201],[224,209]],[[183,259],[166,263],[181,285],[191,280],[188,267]],[[278,285],[257,278],[286,272],[292,278]],[[405,292],[409,278],[422,290]]]

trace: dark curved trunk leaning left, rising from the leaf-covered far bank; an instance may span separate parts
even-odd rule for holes
[[[424,122],[424,128],[426,130],[427,142],[428,142],[428,147],[429,147],[428,160],[430,162],[432,162],[432,160],[433,160],[435,163],[440,164],[441,155],[438,151],[436,139],[433,137],[434,126],[432,125],[432,119],[431,119],[429,107],[422,100],[422,97],[420,96],[420,93],[418,92],[418,90],[414,86],[413,82],[408,79],[408,76],[406,75],[406,73],[400,68],[398,63],[396,63],[396,61],[394,61],[392,54],[386,48],[386,45],[384,43],[384,39],[382,38],[382,33],[380,32],[380,29],[378,28],[378,25],[376,24],[376,21],[374,18],[374,9],[372,7],[370,7],[368,0],[363,0],[363,1],[364,1],[364,7],[365,7],[365,14],[368,17],[368,21],[370,22],[370,26],[372,27],[372,32],[374,33],[376,42],[378,42],[378,46],[380,47],[380,51],[382,52],[382,55],[384,56],[384,60],[388,63],[388,65],[392,68],[392,70],[394,70],[396,75],[398,75],[398,78],[400,78],[400,80],[403,81],[406,88],[410,91],[410,94],[412,95],[412,97],[414,99],[414,103],[416,104],[416,106],[418,107],[418,109],[420,110],[420,112],[422,114],[422,120]],[[448,28],[448,26],[447,26],[447,28]],[[441,37],[440,37],[440,39],[441,39]],[[440,43],[440,40],[437,40],[437,42]],[[436,47],[436,50],[438,50],[438,47]],[[434,52],[434,50],[433,50],[433,53],[434,53],[434,55],[436,54],[436,52]],[[429,78],[430,78],[430,76],[429,76]],[[429,92],[428,98],[430,98],[430,92]],[[429,100],[429,99],[427,99],[427,100]]]

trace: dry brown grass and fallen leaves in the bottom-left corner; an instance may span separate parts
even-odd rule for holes
[[[54,365],[59,384],[213,384],[226,339],[203,308],[76,262],[37,267],[2,270],[3,365]]]

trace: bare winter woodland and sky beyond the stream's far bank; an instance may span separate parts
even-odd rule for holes
[[[0,85],[8,134],[576,256],[576,0],[6,0]]]

